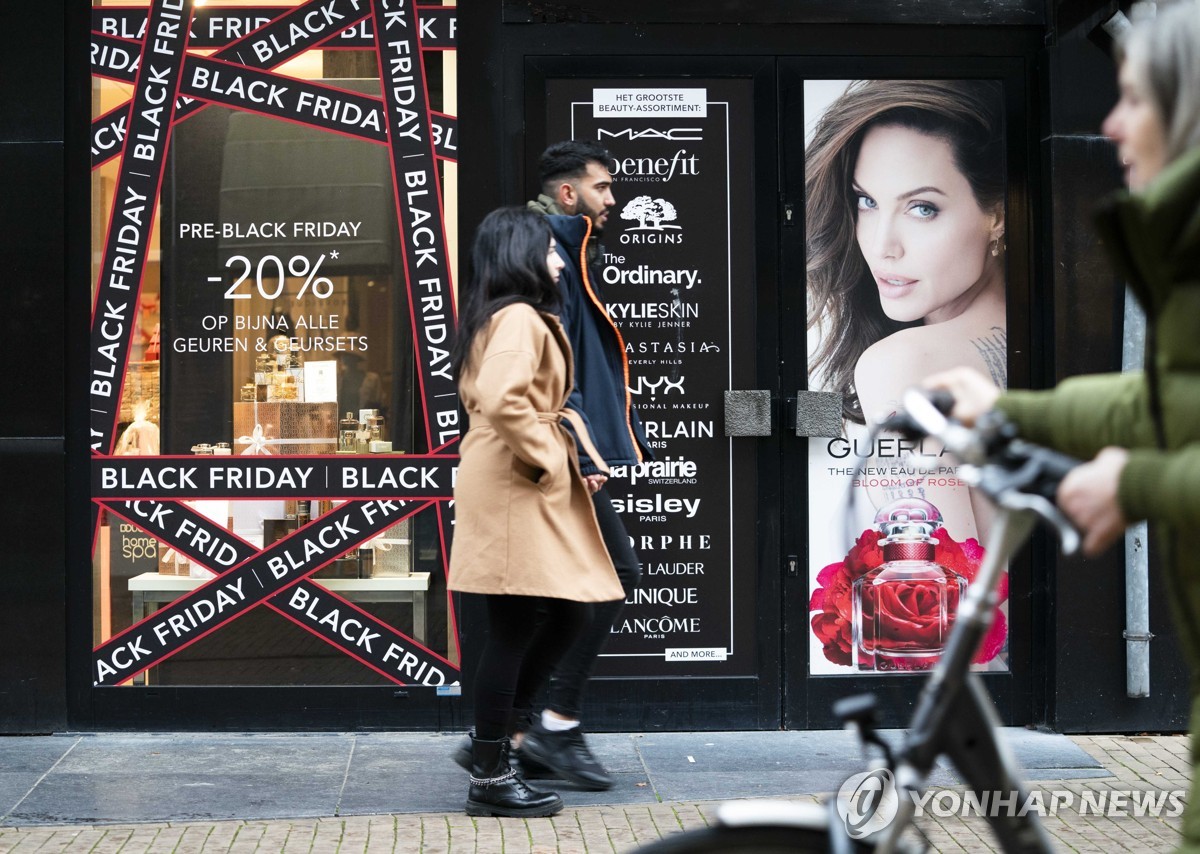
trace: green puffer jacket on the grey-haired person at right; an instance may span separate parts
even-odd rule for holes
[[[1146,369],[1010,391],[997,402],[1031,441],[1090,459],[1130,449],[1117,500],[1127,519],[1158,524],[1181,642],[1200,676],[1200,149],[1142,193],[1100,215],[1106,248],[1146,309]]]

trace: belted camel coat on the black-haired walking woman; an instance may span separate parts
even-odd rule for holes
[[[571,420],[599,459],[582,420],[565,410],[572,384],[571,348],[554,315],[517,302],[476,333],[458,380],[470,423],[455,485],[451,590],[624,597],[563,425]]]

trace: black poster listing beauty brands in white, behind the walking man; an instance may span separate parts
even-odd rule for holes
[[[754,674],[755,444],[724,425],[725,390],[755,386],[751,84],[553,80],[547,95],[547,144],[611,155],[593,284],[655,453],[608,481],[642,584],[600,669]]]

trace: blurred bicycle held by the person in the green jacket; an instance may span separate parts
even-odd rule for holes
[[[942,756],[977,798],[1004,792],[1015,793],[1018,804],[1026,801],[1028,792],[1015,759],[996,739],[1000,721],[982,679],[971,670],[971,661],[991,625],[996,589],[1008,561],[1037,524],[1044,522],[1054,529],[1064,554],[1078,549],[1079,533],[1055,505],[1055,492],[1079,462],[1021,440],[998,413],[967,427],[947,416],[952,404],[942,392],[910,390],[901,411],[871,434],[872,444],[881,432],[940,441],[961,463],[959,476],[996,506],[983,565],[959,601],[946,648],[929,672],[899,748],[893,751],[877,730],[872,694],[846,697],[834,704],[834,714],[857,730],[864,750],[874,746],[883,754],[883,769],[864,775],[857,802],[847,805],[841,798],[824,805],[730,801],[718,808],[716,824],[667,836],[638,848],[638,854],[911,850],[913,846],[901,836],[914,826],[916,795]],[[892,801],[884,769],[894,784]],[[877,776],[872,778],[872,774]],[[988,813],[988,822],[1003,850],[1052,850],[1036,811],[994,812]]]

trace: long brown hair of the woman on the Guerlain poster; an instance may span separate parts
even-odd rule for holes
[[[856,80],[821,116],[805,152],[808,327],[821,344],[809,373],[842,395],[842,414],[863,423],[854,366],[875,342],[912,324],[889,319],[854,234],[852,188],[863,137],[905,127],[946,140],[983,210],[1003,210],[1003,92],[991,80]]]

